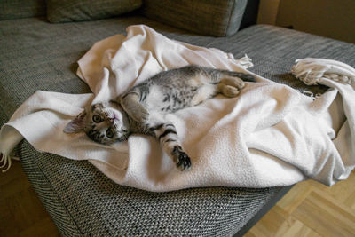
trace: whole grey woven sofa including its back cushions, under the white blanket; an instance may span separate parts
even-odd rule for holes
[[[89,6],[80,9],[77,4],[85,2]],[[255,65],[251,71],[314,94],[327,87],[296,80],[289,73],[296,59],[327,58],[355,65],[351,43],[256,25],[256,0],[122,1],[133,5],[116,12],[111,11],[112,1],[97,2],[100,6],[93,10],[90,4],[95,1],[1,3],[0,125],[38,90],[91,92],[75,74],[76,61],[93,43],[124,34],[135,24],[178,41],[231,52],[235,59],[248,54]],[[71,13],[60,13],[73,7]],[[203,187],[151,193],[115,184],[90,162],[39,153],[27,141],[15,153],[63,236],[241,236],[290,188]]]

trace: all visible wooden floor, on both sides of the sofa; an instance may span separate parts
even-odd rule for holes
[[[0,236],[59,236],[20,163],[0,173]],[[312,180],[294,186],[249,236],[355,236],[355,172],[327,187]]]

